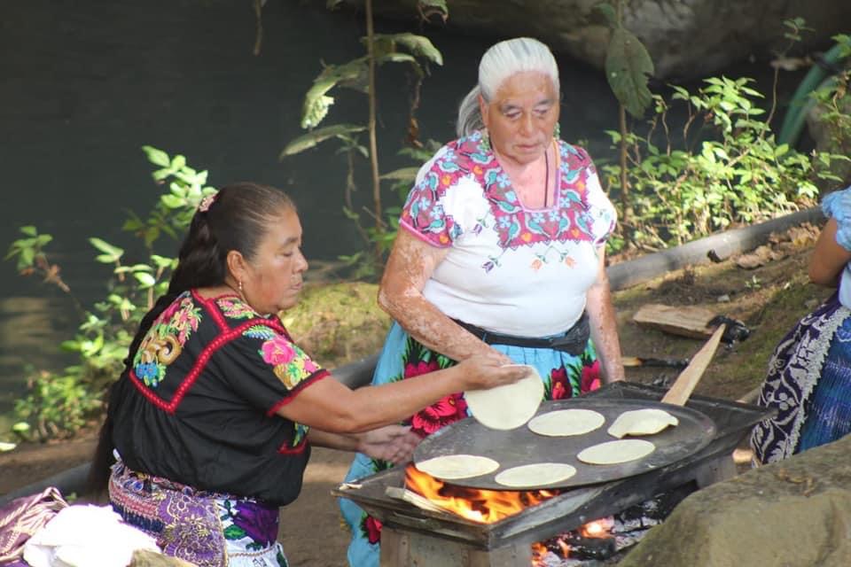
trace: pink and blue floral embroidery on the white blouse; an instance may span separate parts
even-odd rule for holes
[[[503,252],[541,242],[585,241],[596,244],[600,238],[594,234],[595,219],[590,212],[586,190],[587,181],[590,176],[596,175],[596,170],[581,149],[559,143],[558,151],[561,164],[556,206],[546,210],[527,210],[521,205],[511,187],[511,180],[488,149],[481,133],[474,132],[460,138],[445,147],[410,191],[401,221],[433,245],[451,245],[464,233],[464,229],[444,211],[443,201],[447,190],[466,177],[481,187],[494,218],[491,226],[484,218],[477,220],[472,232],[479,234],[482,229],[495,230]],[[602,215],[602,224],[607,221],[610,231],[614,224],[612,214],[608,211],[596,213]],[[487,272],[498,266],[501,255],[489,258],[482,268]],[[547,261],[547,258],[539,258]],[[564,257],[558,258],[558,261],[564,260]]]

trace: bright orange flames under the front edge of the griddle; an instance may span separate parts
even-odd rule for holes
[[[408,466],[405,485],[437,506],[479,524],[493,524],[558,495],[557,490],[482,490],[450,485]]]

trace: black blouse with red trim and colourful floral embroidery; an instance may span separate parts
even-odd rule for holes
[[[113,442],[133,470],[283,506],[301,491],[310,449],[308,427],[277,410],[328,375],[277,316],[187,291],[113,389]]]

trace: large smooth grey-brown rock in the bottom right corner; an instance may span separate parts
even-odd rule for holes
[[[692,493],[619,567],[847,567],[851,436]]]

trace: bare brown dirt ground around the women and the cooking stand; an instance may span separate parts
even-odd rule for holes
[[[761,383],[769,354],[792,324],[829,291],[807,283],[808,253],[816,229],[803,227],[772,239],[744,256],[685,268],[651,283],[614,294],[621,350],[627,356],[682,359],[703,342],[636,325],[632,316],[647,303],[701,306],[743,322],[751,335],[722,347],[696,392],[738,400]],[[353,358],[368,353],[350,353]],[[678,370],[628,368],[628,380],[669,384]],[[86,462],[94,446],[91,433],[73,441],[24,445],[0,454],[0,494],[9,493],[61,470]],[[329,492],[347,470],[350,455],[316,449],[304,478],[301,497],[282,510],[281,533],[293,567],[344,565],[347,535]]]

